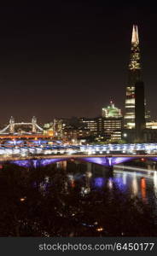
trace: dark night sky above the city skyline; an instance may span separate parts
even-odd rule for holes
[[[145,3],[0,5],[0,124],[124,108],[132,25],[139,28],[148,108],[157,117],[157,11]]]

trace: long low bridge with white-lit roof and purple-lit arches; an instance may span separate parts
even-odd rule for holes
[[[114,166],[131,160],[157,161],[157,143],[104,145],[47,145],[0,148],[0,160],[20,166],[45,166],[63,160],[80,160],[102,166]]]

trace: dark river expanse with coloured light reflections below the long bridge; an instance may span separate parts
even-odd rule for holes
[[[157,236],[157,172],[145,169],[3,164],[0,236]]]

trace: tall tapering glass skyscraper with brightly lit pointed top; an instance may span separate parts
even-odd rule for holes
[[[137,25],[133,26],[131,38],[131,58],[129,77],[126,87],[124,125],[127,129],[135,128],[135,84],[142,80],[140,49]]]

